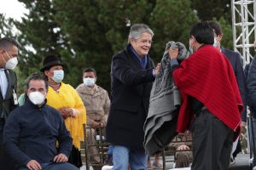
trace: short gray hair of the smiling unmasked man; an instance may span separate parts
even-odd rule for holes
[[[134,24],[131,26],[131,30],[128,37],[128,43],[130,43],[131,39],[137,40],[142,36],[144,32],[148,32],[151,37],[154,36],[154,32],[145,24]]]

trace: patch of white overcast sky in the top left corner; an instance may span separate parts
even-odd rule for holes
[[[0,4],[0,13],[16,20],[20,20],[20,17],[27,12],[23,3],[18,2],[18,0],[0,0]]]

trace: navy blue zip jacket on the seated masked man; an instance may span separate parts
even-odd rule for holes
[[[26,167],[31,160],[51,162],[58,153],[69,157],[72,138],[58,111],[49,105],[39,108],[27,100],[9,115],[3,129],[3,146],[17,167]]]

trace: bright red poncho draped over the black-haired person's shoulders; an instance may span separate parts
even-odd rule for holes
[[[201,101],[226,126],[236,132],[240,130],[241,95],[230,61],[218,49],[212,45],[201,47],[173,71],[173,78],[183,99],[177,120],[178,133],[188,129],[193,118],[189,96]]]

